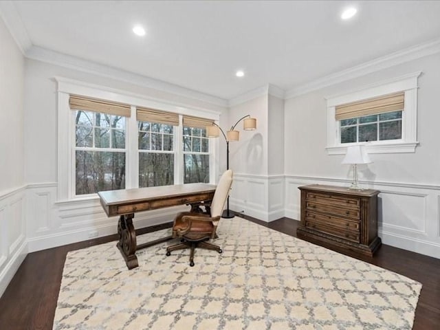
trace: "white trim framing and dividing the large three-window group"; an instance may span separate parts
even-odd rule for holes
[[[192,115],[195,117],[208,118],[214,122],[219,121],[220,111],[212,111],[208,109],[192,109],[188,108],[184,104],[171,104],[166,100],[157,100],[153,98],[146,98],[146,96],[140,94],[134,94],[131,92],[123,91],[120,89],[113,89],[110,87],[104,87],[100,85],[92,85],[84,83],[79,80],[73,80],[63,77],[54,77],[58,83],[58,192],[57,202],[65,201],[80,201],[89,199],[98,199],[96,194],[75,196],[74,192],[74,146],[75,143],[75,131],[74,131],[74,111],[69,107],[70,94],[78,94],[88,96],[90,98],[100,98],[103,100],[111,100],[115,102],[121,102],[125,104],[136,104],[138,107],[151,107],[153,109],[161,109],[162,111],[170,111],[173,113],[179,113],[179,121],[181,123],[182,115]],[[135,118],[135,107],[131,106],[131,116]],[[131,164],[137,164],[137,143],[133,141],[137,132],[137,125],[135,120],[126,121],[126,168],[131,168]],[[180,146],[182,133],[177,133],[175,139],[175,146]],[[217,140],[217,139],[210,139]],[[218,142],[214,143],[210,141],[210,182],[214,183],[217,179],[216,173],[218,173],[217,164],[213,161],[217,157]],[[183,155],[179,152],[180,148],[177,148],[177,157]],[[183,156],[182,156],[183,157]],[[175,162],[177,164],[177,162]],[[137,167],[137,166],[134,166]],[[211,170],[212,169],[212,170]],[[183,179],[183,170],[177,171],[177,181],[175,178],[175,184],[181,184]],[[176,172],[175,172],[176,173]],[[126,173],[126,189],[134,188],[138,185],[138,173]]]

